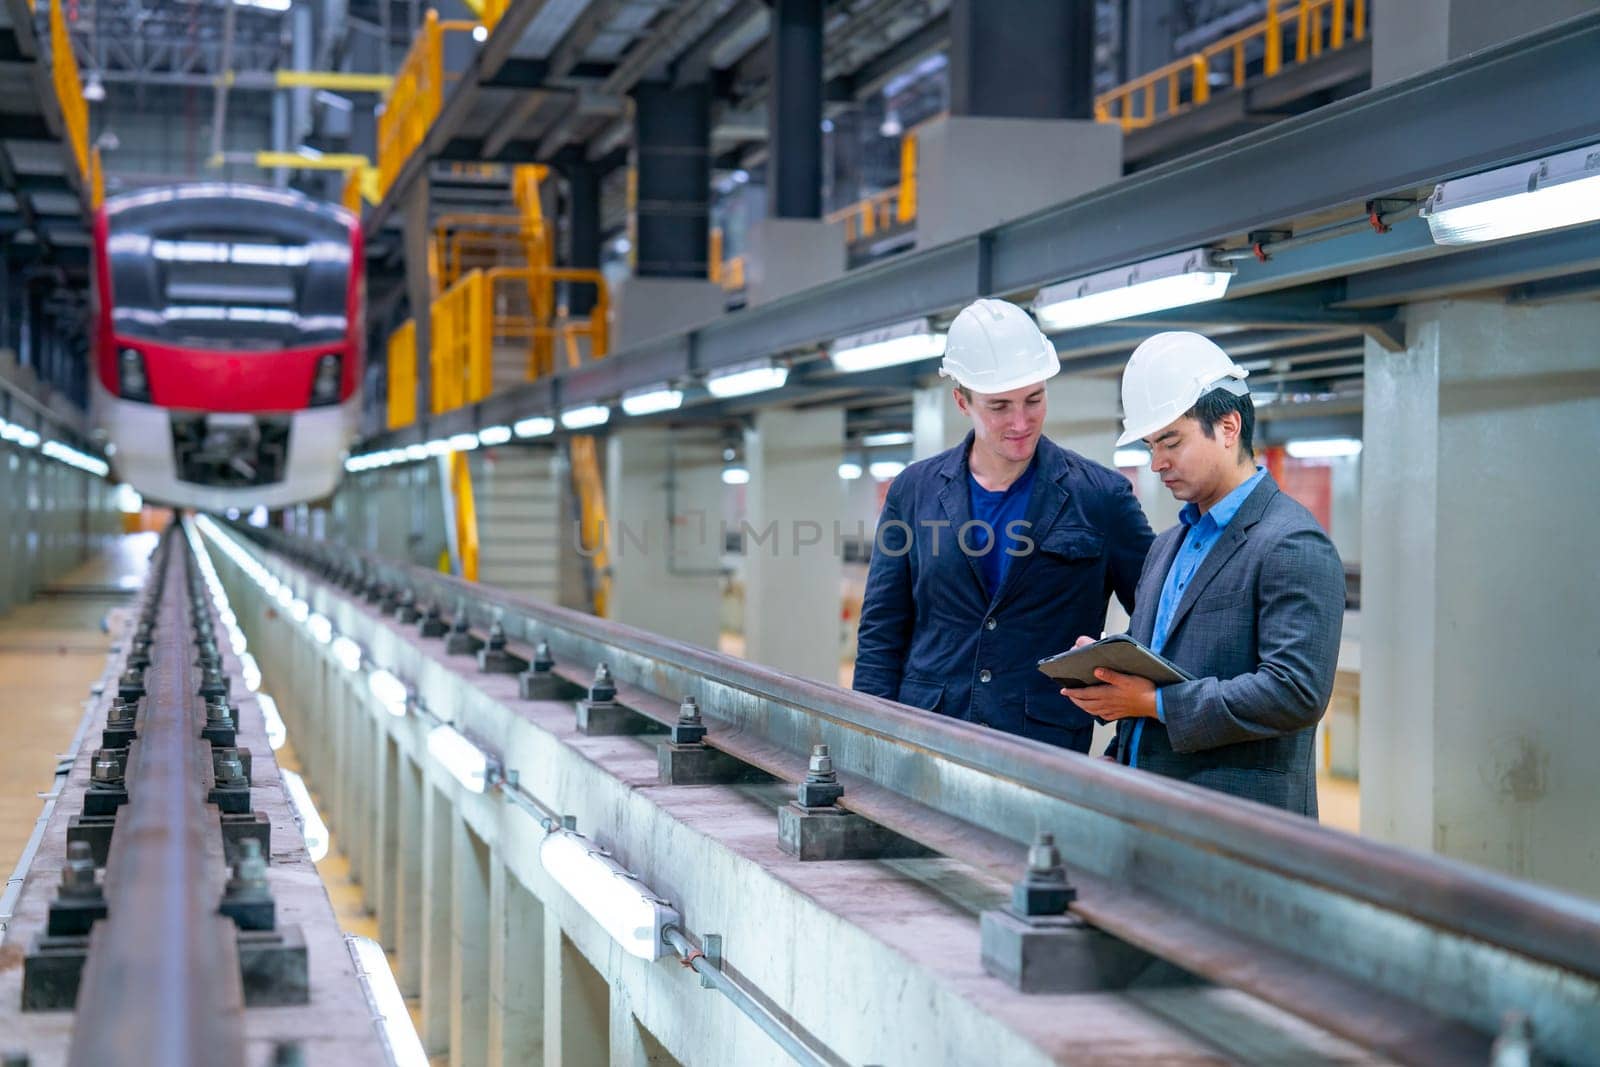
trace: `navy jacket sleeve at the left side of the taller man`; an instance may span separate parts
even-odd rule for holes
[[[901,482],[890,486],[883,514],[872,539],[867,589],[861,597],[861,627],[856,633],[858,693],[899,699],[906,653],[910,648],[915,605],[910,592],[910,528],[902,518]],[[893,525],[891,525],[893,523]]]

